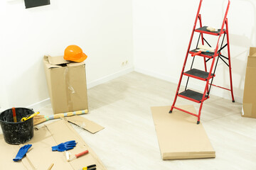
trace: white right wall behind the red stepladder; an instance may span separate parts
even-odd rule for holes
[[[201,8],[203,26],[220,28],[227,3],[227,0],[204,0]],[[178,83],[198,4],[199,0],[133,1],[134,67],[137,72]],[[249,47],[256,46],[255,22],[256,1],[231,0],[228,13],[231,65],[235,101],[239,102],[242,102]],[[195,40],[197,38],[198,34]],[[216,39],[209,39],[210,42],[215,42],[213,40]],[[193,41],[191,47],[195,46],[196,43]],[[188,63],[191,64],[192,57],[188,58]],[[199,57],[197,59],[197,66],[203,66],[203,60]],[[229,87],[228,67],[221,61],[214,84]],[[192,81],[190,85],[193,89],[200,89],[198,81]],[[231,98],[230,91],[216,87],[213,87],[211,93]]]

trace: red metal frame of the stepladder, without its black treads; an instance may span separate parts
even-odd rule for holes
[[[199,3],[199,5],[198,5],[198,11],[197,11],[197,13],[196,13],[196,20],[195,20],[195,23],[194,23],[194,25],[193,25],[193,30],[192,30],[192,33],[191,33],[191,38],[190,38],[189,43],[188,43],[188,50],[187,50],[187,52],[186,52],[186,57],[185,57],[185,60],[184,60],[184,63],[183,63],[183,67],[182,67],[182,70],[181,70],[181,77],[180,77],[180,79],[179,79],[179,81],[178,81],[178,87],[177,87],[177,90],[176,90],[176,95],[175,95],[175,97],[174,97],[174,103],[172,104],[171,109],[170,109],[170,112],[169,112],[169,113],[171,113],[171,112],[173,111],[173,109],[175,108],[175,109],[177,109],[177,110],[179,110],[179,111],[183,111],[183,112],[185,112],[185,113],[194,115],[194,116],[196,116],[196,117],[198,118],[197,124],[200,123],[200,117],[201,117],[201,110],[202,110],[202,107],[203,107],[203,101],[205,101],[207,98],[209,98],[208,95],[206,96],[206,93],[208,92],[208,85],[209,85],[210,79],[215,76],[215,75],[211,76],[211,74],[212,74],[212,72],[213,72],[213,67],[214,67],[214,63],[215,63],[215,57],[218,57],[218,55],[219,55],[219,54],[218,54],[218,44],[219,44],[219,41],[220,41],[220,37],[221,37],[221,35],[222,35],[223,33],[226,33],[226,34],[227,34],[228,63],[229,63],[229,71],[230,71],[230,89],[226,89],[226,90],[230,90],[230,91],[231,91],[231,96],[232,96],[233,102],[235,101],[235,100],[234,100],[234,96],[233,96],[233,85],[232,85],[232,74],[231,74],[231,62],[230,62],[230,46],[229,46],[229,35],[228,35],[228,18],[227,18],[229,6],[230,6],[230,0],[228,0],[228,6],[227,6],[226,11],[225,11],[225,16],[224,16],[224,18],[223,18],[223,23],[222,23],[222,26],[221,26],[221,29],[220,29],[220,33],[211,33],[210,31],[196,30],[196,23],[197,23],[198,19],[199,19],[200,26],[202,27],[201,14],[200,14],[202,1],[203,1],[203,0],[200,0],[200,3]],[[225,26],[226,30],[224,30],[224,26]],[[201,54],[200,52],[190,52],[190,51],[189,51],[190,48],[191,48],[191,42],[192,42],[192,40],[193,40],[193,35],[194,35],[195,32],[201,33],[202,44],[203,44],[203,33],[210,34],[210,35],[218,35],[218,42],[217,42],[217,45],[216,45],[216,47],[215,47],[215,52],[214,52],[214,55],[213,55],[213,56],[203,55],[203,54]],[[193,76],[193,75],[184,73],[184,69],[185,69],[185,67],[186,67],[186,62],[187,62],[187,60],[188,60],[188,54],[189,54],[189,53],[192,54],[192,55],[198,55],[198,56],[202,56],[202,57],[203,57],[203,59],[204,59],[204,66],[205,66],[206,72],[207,72],[206,58],[211,58],[211,59],[213,59],[213,60],[212,60],[212,64],[210,65],[210,70],[209,70],[209,72],[208,72],[209,74],[208,74],[208,78],[207,78],[207,79],[202,79],[202,78],[200,78],[200,77],[195,77],[195,76]],[[188,76],[188,77],[193,77],[193,78],[196,78],[196,79],[201,79],[201,80],[203,80],[203,81],[206,81],[206,87],[205,87],[205,89],[204,89],[204,91],[203,91],[203,97],[202,97],[202,100],[201,100],[201,101],[197,101],[197,100],[195,100],[195,99],[193,99],[193,98],[188,98],[187,96],[183,96],[183,95],[181,95],[181,94],[178,94],[178,91],[179,91],[180,86],[181,86],[181,80],[182,80],[183,75],[186,75],[186,76]],[[213,85],[213,84],[212,84],[212,85]],[[213,86],[216,86],[216,85],[213,85]],[[218,87],[220,87],[220,86],[218,86]],[[225,89],[225,88],[223,88],[223,87],[220,87],[220,88]],[[196,115],[196,114],[194,114],[194,113],[191,113],[191,112],[189,112],[189,111],[185,111],[185,110],[183,110],[183,109],[181,109],[181,108],[177,108],[177,107],[175,106],[175,103],[176,103],[176,100],[177,100],[177,97],[178,97],[178,96],[181,97],[181,98],[186,98],[186,99],[188,99],[188,100],[190,100],[190,101],[194,101],[194,102],[196,102],[196,103],[201,103],[201,104],[200,104],[200,107],[199,107],[198,115]]]

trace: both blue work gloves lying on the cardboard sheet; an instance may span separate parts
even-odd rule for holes
[[[68,142],[64,142],[59,145],[53,146],[52,151],[63,152],[65,150],[70,150],[70,149],[73,149],[76,144],[77,143],[75,142],[75,140],[70,140]],[[13,159],[14,162],[18,162],[19,160],[21,160],[26,155],[26,152],[28,152],[28,149],[31,148],[31,146],[32,145],[24,145],[23,147],[21,147],[18,150],[18,154]]]

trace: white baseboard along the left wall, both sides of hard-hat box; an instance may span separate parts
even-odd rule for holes
[[[92,82],[88,83],[87,84],[87,89],[90,89],[93,86],[97,86],[99,84],[102,84],[102,83],[105,83],[105,82],[110,81],[112,79],[115,79],[117,77],[120,77],[120,76],[122,76],[124,74],[127,74],[129,72],[132,72],[132,71],[134,71],[134,67],[129,67],[127,69],[123,69],[123,70],[121,70],[119,72],[116,72],[114,74],[110,74],[107,77],[102,77],[100,79],[97,79],[95,81],[92,81]],[[30,106],[26,106],[26,108],[33,108],[34,111],[38,111],[38,109],[40,109],[43,106],[46,106],[48,104],[50,104],[50,98],[46,98],[43,101],[39,101],[37,103],[33,103]]]

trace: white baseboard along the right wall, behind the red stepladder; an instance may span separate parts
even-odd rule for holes
[[[151,77],[156,77],[158,79],[163,79],[163,80],[169,81],[169,82],[174,83],[174,84],[178,84],[179,77],[170,77],[167,74],[159,74],[159,73],[152,72],[152,71],[149,71],[149,70],[146,70],[146,69],[140,69],[138,67],[134,67],[134,71],[142,73],[142,74],[149,75]],[[191,83],[190,86],[191,86],[192,89],[195,89],[195,90],[201,90],[202,89],[202,87],[199,86],[198,84]],[[225,92],[223,92],[223,91],[225,91],[225,90],[219,89],[218,87],[213,87],[213,89],[210,91],[210,94],[213,94],[214,96],[219,96],[219,97],[222,97],[222,98],[232,100],[230,92],[228,91],[228,93],[227,93],[227,91],[225,91]],[[234,96],[234,98],[235,98],[235,102],[242,103],[242,97]]]

